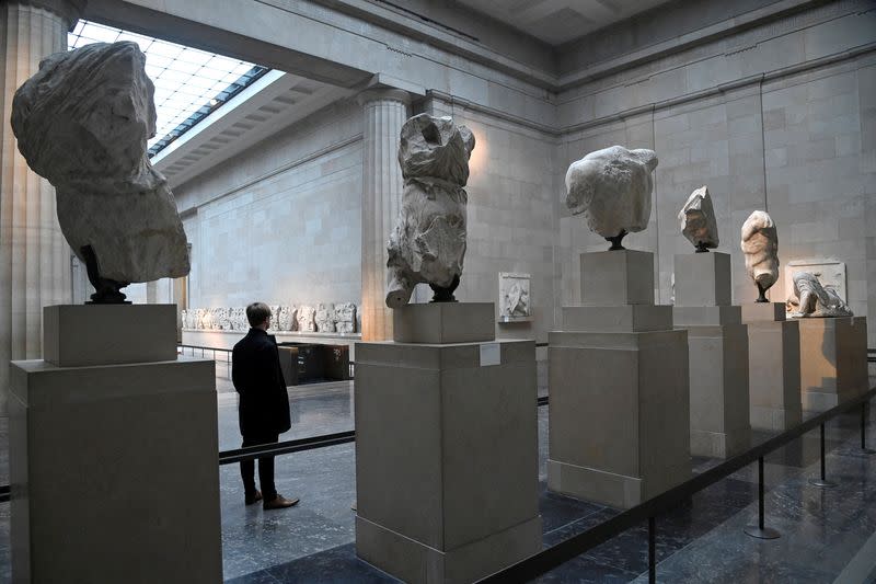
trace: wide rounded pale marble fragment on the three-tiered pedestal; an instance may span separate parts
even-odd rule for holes
[[[643,231],[650,219],[650,173],[657,168],[654,150],[612,146],[573,162],[566,172],[566,206],[584,214],[590,231],[623,250],[627,233]]]

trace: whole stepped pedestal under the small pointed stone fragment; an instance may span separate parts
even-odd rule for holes
[[[748,333],[730,304],[730,256],[676,255],[676,328],[690,348],[691,454],[727,458],[749,447]]]

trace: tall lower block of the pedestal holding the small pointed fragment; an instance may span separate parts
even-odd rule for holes
[[[691,454],[728,458],[751,443],[745,324],[689,327]]]

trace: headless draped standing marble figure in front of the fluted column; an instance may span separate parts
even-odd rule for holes
[[[400,308],[419,283],[433,301],[454,301],[465,257],[465,183],[474,135],[450,117],[419,114],[402,126],[402,208],[390,236],[387,306]]]

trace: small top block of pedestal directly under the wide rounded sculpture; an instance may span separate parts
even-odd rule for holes
[[[581,305],[654,304],[654,254],[636,250],[583,253]]]

